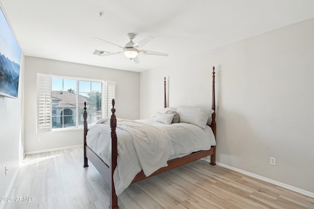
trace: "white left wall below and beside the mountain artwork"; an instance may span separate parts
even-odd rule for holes
[[[7,18],[1,2],[0,7],[10,24],[10,20]],[[0,197],[5,197],[10,183],[19,168],[21,153],[23,151],[20,145],[23,131],[24,58],[22,52],[18,98],[0,96]],[[5,165],[7,165],[8,168],[7,175],[5,175]],[[0,208],[2,204],[3,203],[0,202]]]

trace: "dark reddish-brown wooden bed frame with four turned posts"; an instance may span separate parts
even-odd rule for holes
[[[214,136],[216,137],[216,122],[215,122],[215,68],[212,68],[212,104],[211,108],[214,111],[211,115],[212,121],[210,124],[210,127],[212,129],[212,132]],[[86,112],[86,102],[84,103],[84,164],[83,167],[88,167],[88,160],[96,167],[96,169],[101,173],[104,180],[108,183],[110,186],[110,205],[109,209],[119,209],[118,207],[118,196],[115,192],[115,187],[113,183],[113,172],[114,169],[117,166],[117,156],[118,156],[118,150],[117,150],[117,134],[116,134],[116,126],[117,126],[117,119],[115,116],[115,101],[112,99],[112,115],[110,118],[110,127],[111,127],[111,167],[109,167],[107,164],[104,163],[104,161],[97,156],[87,145],[86,145],[86,135],[87,135],[87,112]],[[166,104],[166,78],[164,78],[164,108],[167,107]],[[155,176],[157,174],[166,172],[168,170],[171,170],[173,168],[180,167],[184,164],[191,163],[194,161],[197,161],[201,158],[205,158],[207,156],[210,156],[210,164],[215,165],[215,155],[216,155],[216,146],[212,146],[209,150],[202,150],[198,152],[193,152],[187,156],[184,156],[182,158],[177,158],[168,161],[167,167],[159,168],[157,171],[155,171],[150,176],[146,177],[143,170],[139,172],[135,178],[133,179],[132,183],[150,178],[152,176]],[[88,159],[88,160],[87,160]],[[131,184],[132,184],[131,183]]]

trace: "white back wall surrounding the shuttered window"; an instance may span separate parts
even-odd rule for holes
[[[116,82],[116,116],[139,118],[139,73],[26,56],[25,151],[37,152],[83,143],[83,130],[36,134],[37,73],[112,80]],[[42,137],[42,141],[38,137]]]

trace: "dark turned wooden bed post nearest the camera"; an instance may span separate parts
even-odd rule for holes
[[[114,181],[113,181],[113,172],[115,168],[117,167],[117,157],[118,157],[118,140],[117,140],[117,133],[116,133],[116,127],[117,127],[117,118],[115,115],[116,109],[114,108],[115,101],[112,99],[112,109],[111,109],[111,118],[110,118],[110,128],[111,128],[111,164],[110,164],[110,170],[111,170],[111,184],[110,185],[110,206],[109,209],[119,209],[118,207],[118,196],[116,194],[116,190],[114,187]]]

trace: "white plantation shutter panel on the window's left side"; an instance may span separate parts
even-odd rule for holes
[[[51,78],[37,73],[37,133],[51,131]]]

